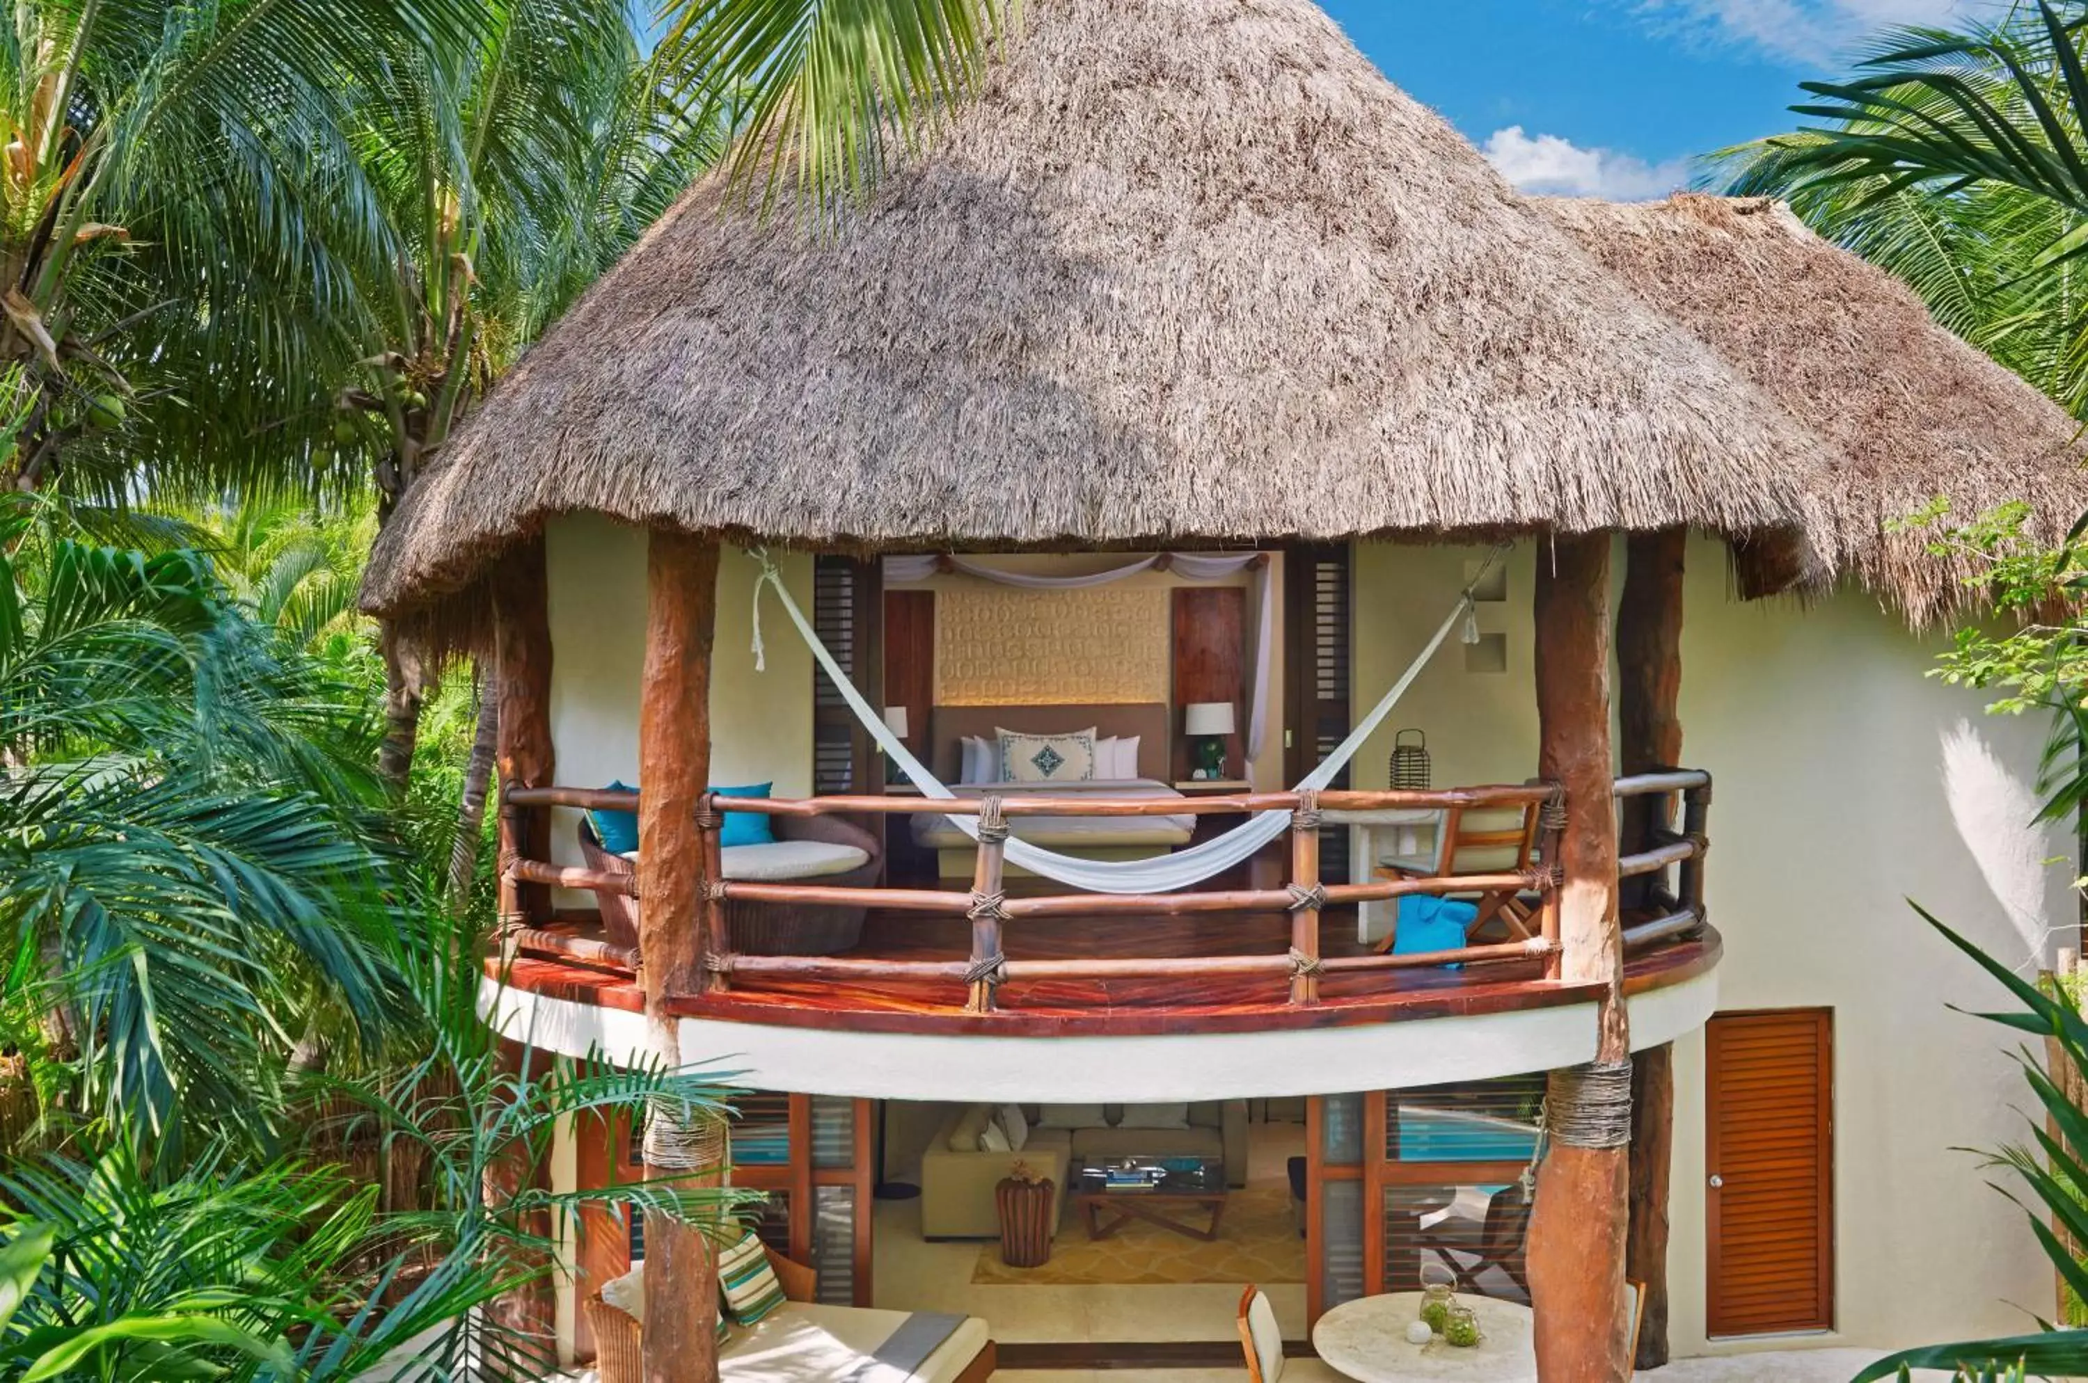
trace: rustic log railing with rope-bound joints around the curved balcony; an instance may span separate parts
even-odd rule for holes
[[[1652,849],[1624,855],[1620,878],[1658,876],[1650,889],[1662,899],[1660,916],[1627,930],[1627,947],[1641,949],[1687,935],[1704,918],[1704,814],[1710,803],[1710,776],[1702,772],[1660,772],[1620,778],[1618,799],[1668,795],[1683,799],[1683,830],[1664,832]],[[796,980],[946,980],[952,997],[965,993],[965,1010],[988,1014],[998,1008],[998,991],[1013,980],[1107,980],[1107,978],[1238,978],[1267,976],[1288,991],[1292,1005],[1320,1001],[1320,978],[1326,974],[1391,972],[1432,966],[1487,966],[1541,957],[1547,976],[1558,974],[1558,832],[1560,811],[1541,811],[1539,847],[1533,868],[1514,874],[1445,874],[1428,878],[1380,878],[1370,882],[1320,882],[1322,811],[1384,811],[1384,809],[1489,809],[1545,807],[1558,797],[1549,784],[1478,786],[1445,791],[1324,791],[1324,793],[1238,793],[1228,797],[1190,799],[1115,799],[1023,797],[1021,793],[933,801],[921,797],[806,797],[762,799],[706,795],[697,809],[697,828],[706,855],[706,878],[712,882],[702,899],[710,985],[731,989],[735,978],[783,976]],[[631,811],[637,793],[608,788],[516,788],[503,795],[503,809],[541,807],[608,807]],[[973,855],[971,891],[829,887],[816,882],[748,882],[722,878],[720,834],[722,811],[758,816],[912,816],[942,811],[971,816],[979,822]],[[1288,880],[1280,889],[1213,889],[1163,895],[1102,893],[1040,893],[1009,897],[1004,889],[1009,822],[1025,816],[1247,816],[1257,811],[1290,814]],[[1666,872],[1681,868],[1681,893],[1666,891]],[[593,889],[637,897],[637,878],[606,874],[537,859],[505,862],[507,876],[522,882]],[[1535,893],[1539,897],[1537,935],[1526,941],[1464,945],[1424,953],[1324,955],[1320,918],[1326,907],[1386,901],[1407,895],[1449,893]],[[752,955],[735,951],[725,903],[798,905],[798,907],[879,907],[963,916],[971,922],[971,949],[963,960],[885,960],[867,955]],[[1065,957],[1011,960],[1004,953],[1009,926],[1048,922],[1052,918],[1096,916],[1196,916],[1288,912],[1288,949],[1270,955],[1153,955],[1153,957]],[[597,943],[599,945],[599,943]],[[603,947],[614,951],[616,947]],[[570,947],[568,947],[570,951]],[[635,957],[633,957],[635,960]]]

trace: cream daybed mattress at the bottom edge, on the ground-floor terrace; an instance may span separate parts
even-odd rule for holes
[[[967,1316],[912,1373],[877,1364],[877,1345],[904,1325],[902,1310],[791,1304],[733,1331],[718,1358],[720,1383],[954,1383],[986,1348],[986,1323]]]

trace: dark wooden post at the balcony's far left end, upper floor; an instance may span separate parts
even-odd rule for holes
[[[551,916],[551,889],[507,878],[514,859],[551,857],[551,811],[516,807],[509,788],[551,786],[551,607],[543,538],[524,542],[493,569],[493,688],[499,697],[495,766],[501,774],[499,909],[501,926]]]

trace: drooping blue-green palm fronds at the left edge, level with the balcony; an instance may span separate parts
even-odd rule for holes
[[[374,726],[205,557],[67,513],[0,505],[0,1018],[77,1116],[267,1143],[303,1012],[393,1003]]]

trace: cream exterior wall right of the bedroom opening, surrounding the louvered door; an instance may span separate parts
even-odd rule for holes
[[[1474,551],[1357,547],[1359,711],[1405,668]],[[1434,782],[1522,780],[1537,768],[1531,584],[1510,563],[1508,674],[1468,674],[1445,647],[1389,726],[1422,726]],[[1620,569],[1618,569],[1620,576]],[[1833,1008],[1837,1331],[1792,1343],[1908,1345],[2032,1329],[2009,1302],[2053,1308],[2050,1270],[1977,1160],[1952,1147],[2023,1137],[2007,1035],[1946,1003],[1994,987],[1906,907],[2025,970],[2044,928],[2071,924],[2065,832],[2030,824],[2044,734],[1990,718],[1923,674],[1944,634],[1913,636],[1862,595],[1814,607],[1729,599],[1723,551],[1691,544],[1683,626],[1685,761],[1716,778],[1708,905],[1725,937],[1721,1010]],[[1382,786],[1391,730],[1357,761]],[[1704,1041],[1677,1043],[1672,1343],[1704,1337]],[[1769,1341],[1764,1341],[1769,1343]]]

